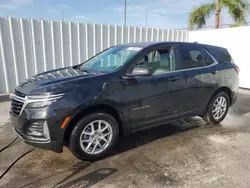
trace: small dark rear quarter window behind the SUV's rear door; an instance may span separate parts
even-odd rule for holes
[[[219,47],[206,47],[209,53],[220,63],[234,63],[227,49]]]

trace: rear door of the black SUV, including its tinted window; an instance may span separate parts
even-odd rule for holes
[[[181,44],[177,51],[176,71],[182,76],[179,116],[202,115],[217,86],[217,62],[199,44]]]

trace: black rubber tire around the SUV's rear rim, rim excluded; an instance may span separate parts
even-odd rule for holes
[[[220,119],[214,119],[213,115],[212,115],[212,110],[213,110],[213,105],[214,102],[216,101],[217,98],[219,97],[224,97],[227,101],[227,107],[226,107],[226,112],[224,113],[224,115],[220,118]],[[224,120],[224,118],[227,116],[228,113],[228,109],[230,106],[230,100],[228,95],[225,92],[219,92],[218,94],[216,94],[212,100],[209,103],[208,109],[207,109],[207,118],[208,118],[208,123],[213,123],[213,124],[219,124],[221,121]]]

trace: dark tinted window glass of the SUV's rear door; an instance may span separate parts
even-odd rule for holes
[[[213,58],[200,46],[180,45],[177,70],[204,67],[214,63]]]

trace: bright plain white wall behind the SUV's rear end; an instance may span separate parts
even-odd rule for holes
[[[250,89],[250,26],[191,31],[188,41],[227,48],[240,67],[240,87]]]

